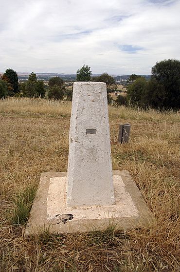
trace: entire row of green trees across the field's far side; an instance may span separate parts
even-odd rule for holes
[[[103,73],[92,77],[89,65],[83,65],[76,72],[76,81],[95,81],[107,84],[108,103],[112,102],[110,92],[117,91],[114,77]],[[119,95],[115,101],[117,105],[131,105],[143,108],[179,109],[180,108],[180,61],[164,60],[152,67],[151,79],[132,74],[128,78],[127,96]],[[30,98],[45,95],[49,99],[72,100],[72,89],[65,86],[63,79],[53,77],[48,86],[36,78],[35,73],[29,75],[26,83],[18,84],[18,75],[12,69],[7,69],[0,79],[0,98],[6,96],[23,96]]]

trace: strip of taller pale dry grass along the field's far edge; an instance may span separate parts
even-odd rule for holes
[[[24,116],[46,116],[46,117],[71,117],[71,102],[69,101],[51,101],[47,99],[28,99],[28,98],[9,98],[0,100],[0,113],[2,115],[18,114]],[[150,109],[144,111],[131,108],[109,107],[109,117],[112,119],[120,118],[127,120],[147,120],[147,121],[170,121],[179,122],[180,114],[174,112],[163,112],[159,114],[156,110]]]

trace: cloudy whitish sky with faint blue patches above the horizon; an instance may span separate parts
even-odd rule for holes
[[[150,74],[180,59],[180,0],[0,0],[0,72]]]

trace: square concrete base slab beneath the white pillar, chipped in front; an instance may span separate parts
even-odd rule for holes
[[[52,233],[104,230],[109,223],[117,229],[148,224],[148,210],[141,192],[128,171],[113,171],[115,204],[108,206],[66,206],[67,173],[42,173],[25,235],[44,229]]]

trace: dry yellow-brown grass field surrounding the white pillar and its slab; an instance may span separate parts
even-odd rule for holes
[[[179,113],[109,107],[113,169],[126,169],[150,227],[24,239],[41,172],[66,171],[70,102],[0,101],[0,272],[178,272]],[[129,144],[117,143],[131,124]]]

